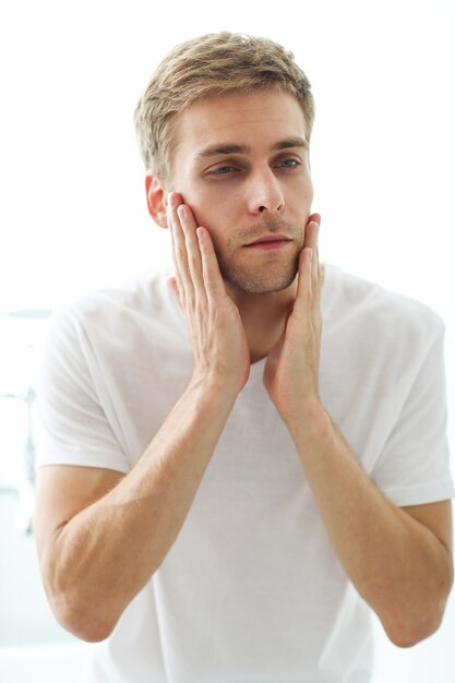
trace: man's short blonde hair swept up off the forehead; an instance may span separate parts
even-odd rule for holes
[[[310,142],[314,100],[310,82],[292,52],[267,38],[226,31],[178,45],[158,65],[134,111],[146,170],[163,182],[169,180],[175,148],[172,122],[195,100],[275,87],[299,100]]]

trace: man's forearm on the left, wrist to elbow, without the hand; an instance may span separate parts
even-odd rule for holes
[[[134,468],[65,522],[49,548],[46,585],[60,621],[106,637],[176,540],[230,414],[223,387],[191,385]]]

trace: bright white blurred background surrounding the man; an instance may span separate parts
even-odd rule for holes
[[[35,386],[49,313],[170,257],[148,217],[132,112],[179,41],[229,29],[290,48],[316,100],[322,259],[446,324],[455,452],[455,4],[452,0],[3,0],[0,4],[0,680],[79,680],[88,645],[51,616],[31,514]],[[374,683],[453,683],[455,599]]]

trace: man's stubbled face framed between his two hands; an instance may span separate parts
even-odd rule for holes
[[[228,287],[289,287],[313,199],[297,98],[282,91],[213,96],[183,111],[173,134],[172,190],[209,231]]]

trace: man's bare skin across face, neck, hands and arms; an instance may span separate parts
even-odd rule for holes
[[[289,97],[227,96],[223,107],[215,99],[190,107],[176,156],[182,192],[168,194],[147,179],[151,213],[172,236],[173,287],[190,332],[193,375],[127,476],[82,467],[39,472],[35,528],[46,590],[57,618],[82,638],[106,638],[166,558],[251,362],[265,357],[265,390],[357,590],[397,645],[428,637],[441,622],[453,580],[450,502],[393,505],[320,400],[320,216],[310,208],[304,153],[289,143],[304,139],[301,111]],[[241,153],[206,161],[200,152],[207,131],[223,143],[243,135],[251,148],[239,145]],[[288,145],[286,153],[277,141]],[[216,214],[205,208],[211,205]],[[273,221],[289,241],[271,253],[243,243],[236,228],[244,224],[244,235],[255,239],[273,232]],[[224,277],[217,253],[235,277],[259,273],[267,291],[248,292]],[[290,281],[276,289],[284,266]]]

